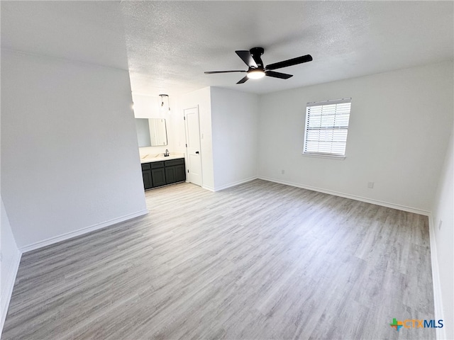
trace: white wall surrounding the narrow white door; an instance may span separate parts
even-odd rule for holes
[[[209,190],[214,190],[214,164],[213,164],[213,145],[211,140],[211,89],[205,87],[197,91],[190,92],[177,98],[176,117],[179,120],[179,127],[175,128],[179,135],[179,140],[175,142],[179,152],[186,152],[184,140],[184,109],[199,107],[200,125],[200,154],[202,167],[202,186]],[[186,163],[187,164],[187,163]]]

